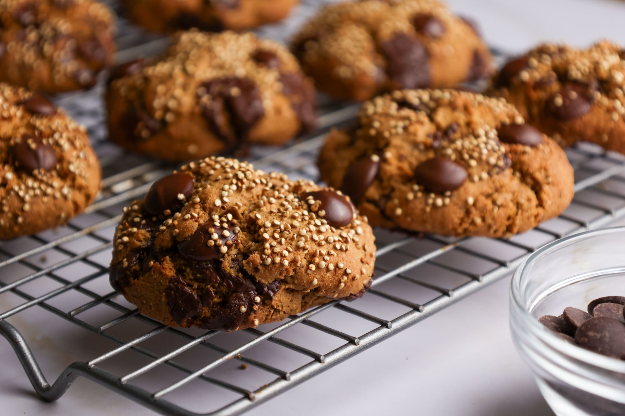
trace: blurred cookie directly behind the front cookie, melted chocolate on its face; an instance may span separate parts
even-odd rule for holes
[[[116,67],[109,81],[110,139],[161,159],[282,144],[316,121],[296,59],[252,33],[178,32],[163,56]]]

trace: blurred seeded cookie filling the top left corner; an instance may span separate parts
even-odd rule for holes
[[[54,94],[93,87],[116,50],[113,14],[92,0],[0,0],[0,81]]]

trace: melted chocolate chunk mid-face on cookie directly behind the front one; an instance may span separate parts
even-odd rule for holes
[[[205,82],[202,87],[211,96],[202,107],[215,135],[233,151],[246,140],[247,132],[264,115],[261,94],[247,77],[225,77]]]

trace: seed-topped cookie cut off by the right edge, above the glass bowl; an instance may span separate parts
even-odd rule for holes
[[[489,94],[562,146],[588,141],[625,153],[625,49],[616,44],[543,44],[507,62]]]

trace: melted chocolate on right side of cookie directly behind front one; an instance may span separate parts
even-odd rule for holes
[[[280,74],[282,92],[289,97],[291,107],[302,124],[302,131],[312,132],[317,125],[317,104],[314,90],[306,83],[306,78],[299,72]]]

